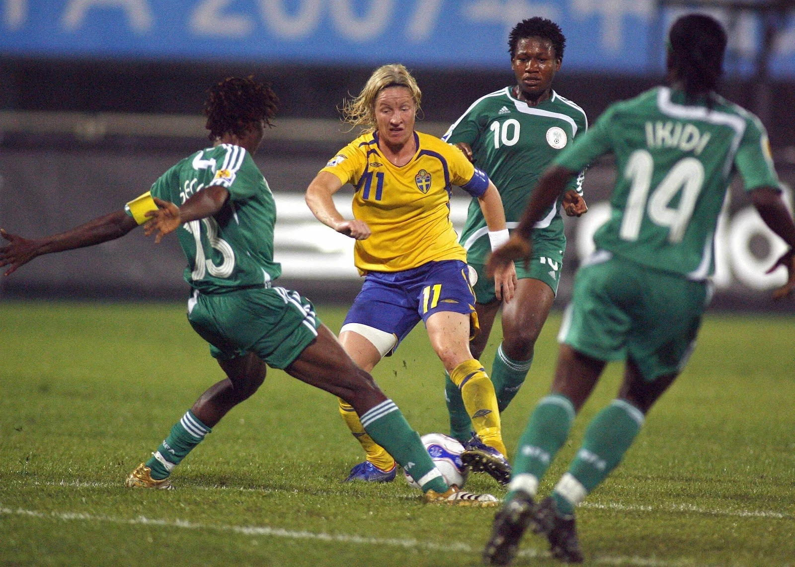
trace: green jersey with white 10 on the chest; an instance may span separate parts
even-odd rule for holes
[[[530,107],[514,97],[512,87],[505,87],[476,100],[442,139],[471,146],[475,165],[487,173],[500,193],[508,228],[514,228],[541,173],[587,129],[584,111],[555,91],[548,100]],[[571,188],[582,193],[581,185],[580,176]],[[558,239],[564,246],[559,205],[551,207],[536,228],[543,238]],[[485,260],[491,251],[487,234],[483,212],[473,199],[460,237],[467,258]]]

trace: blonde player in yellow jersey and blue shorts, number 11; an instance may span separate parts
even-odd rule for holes
[[[420,99],[417,81],[405,67],[376,69],[344,108],[347,122],[364,126],[366,134],[317,174],[306,201],[320,222],[356,239],[355,265],[366,274],[339,334],[347,353],[370,371],[425,321],[432,347],[460,389],[482,441],[473,442],[462,460],[505,483],[510,465],[494,386],[469,350],[478,318],[466,252],[449,219],[452,185],[477,198],[493,238],[506,235],[505,213],[497,188],[458,148],[414,130]],[[332,200],[346,183],[356,188],[351,220]],[[506,298],[514,294],[515,279],[512,264],[495,275]],[[394,480],[393,456],[362,429],[355,408],[340,400],[339,411],[367,454],[348,480]]]

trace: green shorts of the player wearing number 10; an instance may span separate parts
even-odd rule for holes
[[[547,240],[533,238],[533,255],[526,262],[518,260],[516,278],[533,278],[541,280],[557,295],[557,284],[563,271],[563,253],[566,241],[560,239]],[[494,279],[486,275],[486,257],[483,254],[468,254],[467,264],[478,273],[478,281],[472,286],[475,290],[475,301],[480,304],[497,301],[494,293]]]

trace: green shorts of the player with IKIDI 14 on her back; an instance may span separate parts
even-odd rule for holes
[[[706,282],[599,250],[577,270],[558,341],[599,360],[629,357],[651,382],[687,363],[708,296]]]

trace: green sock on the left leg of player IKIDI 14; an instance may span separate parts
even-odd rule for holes
[[[575,415],[572,401],[563,394],[541,398],[519,440],[514,457],[514,478],[518,480],[516,483],[511,481],[508,497],[512,497],[516,490],[535,495],[538,481],[566,442]],[[528,480],[532,482],[526,482]]]

